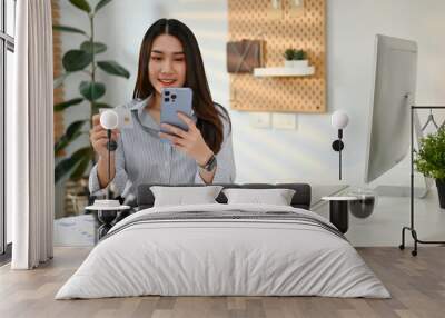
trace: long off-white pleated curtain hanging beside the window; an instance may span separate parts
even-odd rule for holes
[[[52,22],[50,0],[17,1],[14,92],[7,167],[13,269],[52,258],[55,215]],[[7,110],[8,112],[8,110]]]

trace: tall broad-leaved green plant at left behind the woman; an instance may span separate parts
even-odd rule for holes
[[[86,40],[79,48],[69,50],[62,57],[62,66],[65,72],[55,79],[55,88],[61,86],[63,81],[72,73],[80,72],[86,79],[79,83],[79,97],[55,105],[55,111],[65,111],[66,109],[79,106],[83,101],[89,103],[87,118],[72,122],[55,143],[55,155],[60,153],[70,143],[78,139],[81,135],[88,133],[82,128],[89,122],[92,127],[92,116],[99,112],[100,108],[110,108],[111,106],[101,102],[99,99],[106,93],[106,85],[96,80],[96,72],[99,70],[111,74],[128,79],[130,73],[118,62],[112,60],[97,60],[97,56],[107,51],[107,46],[96,42],[95,39],[95,17],[111,0],[100,0],[92,9],[87,0],[69,0],[69,2],[79,9],[82,13],[88,14],[90,30],[89,33],[69,26],[52,26],[55,31],[76,33],[82,36]],[[70,173],[69,178],[73,181],[85,176],[89,162],[95,160],[92,147],[81,147],[66,159],[62,159],[55,169],[55,181],[58,182],[63,176]]]

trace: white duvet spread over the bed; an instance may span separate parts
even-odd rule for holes
[[[146,213],[307,210],[265,205],[150,208],[123,219],[62,286],[56,299],[161,296],[327,296],[389,298],[348,241],[323,228],[274,220],[171,220]],[[120,229],[120,230],[119,230]]]

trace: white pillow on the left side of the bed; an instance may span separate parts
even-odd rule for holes
[[[154,207],[218,203],[215,199],[221,189],[221,186],[150,187],[155,196]]]

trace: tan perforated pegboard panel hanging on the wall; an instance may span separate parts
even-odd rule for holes
[[[229,40],[265,40],[266,67],[283,67],[287,48],[304,49],[309,63],[315,66],[315,74],[291,78],[230,74],[230,106],[246,111],[325,112],[325,0],[305,0],[301,14],[290,10],[290,0],[281,0],[281,6],[277,17],[270,11],[269,0],[229,0]]]

